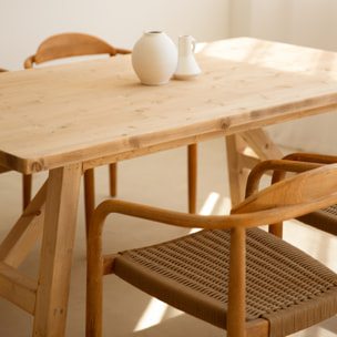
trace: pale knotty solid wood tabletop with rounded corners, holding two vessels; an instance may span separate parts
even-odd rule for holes
[[[337,53],[239,38],[196,60],[195,80],[161,86],[142,85],[130,55],[2,73],[0,166],[32,173],[337,108]]]

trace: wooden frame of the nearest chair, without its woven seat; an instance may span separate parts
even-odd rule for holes
[[[103,255],[102,235],[106,216],[114,213],[182,227],[231,229],[227,336],[268,337],[267,321],[245,324],[245,228],[297,217],[337,202],[337,164],[317,167],[312,163],[269,161],[256,171],[279,167],[302,173],[252,194],[231,215],[186,214],[115,200],[101,203],[93,213],[86,252],[86,337],[102,336],[103,276],[114,273],[118,256]]]

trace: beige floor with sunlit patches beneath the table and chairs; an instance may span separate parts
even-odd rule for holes
[[[95,170],[96,201],[108,197],[108,168]],[[45,178],[38,174],[34,188]],[[0,237],[10,229],[21,207],[21,176],[18,173],[0,175]],[[185,211],[186,149],[176,149],[125,161],[119,164],[119,198],[143,204]],[[224,140],[207,141],[198,145],[198,212],[228,213],[228,182]],[[104,249],[116,252],[143,244],[156,243],[187,233],[186,229],[155,225],[122,216],[111,216],[104,227]],[[285,238],[297,244],[337,272],[337,239],[289,222]],[[38,273],[39,243],[22,266],[25,273]],[[85,315],[85,236],[83,193],[81,192],[78,231],[74,247],[72,283],[69,303],[67,336],[84,336]],[[149,319],[150,317],[150,319]],[[140,293],[114,276],[104,279],[103,336],[225,336],[224,331],[165,306]],[[0,336],[29,337],[32,317],[0,298]],[[337,335],[337,317],[319,326],[295,334],[296,337],[333,337]]]

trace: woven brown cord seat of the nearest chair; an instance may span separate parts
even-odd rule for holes
[[[337,275],[330,269],[258,228],[247,231],[246,249],[246,320],[268,319],[275,337],[337,313]],[[147,294],[225,328],[228,254],[228,231],[202,231],[123,252],[114,272]]]

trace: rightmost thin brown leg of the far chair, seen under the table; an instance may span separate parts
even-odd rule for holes
[[[188,212],[196,212],[196,171],[197,171],[197,145],[187,146],[188,157]]]

